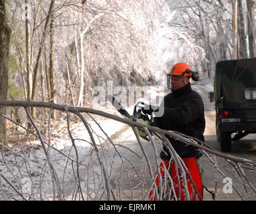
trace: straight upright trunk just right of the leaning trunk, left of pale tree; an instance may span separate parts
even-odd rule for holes
[[[55,86],[55,67],[54,67],[54,15],[52,14],[52,19],[50,23],[50,94],[51,103],[56,103],[56,86]],[[56,110],[52,111],[52,119],[56,118]]]

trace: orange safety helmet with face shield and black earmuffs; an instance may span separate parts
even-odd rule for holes
[[[186,63],[178,63],[178,64],[172,66],[172,70],[170,71],[169,74],[167,74],[168,89],[172,88],[172,86],[171,86],[171,77],[172,76],[177,76],[177,77],[181,77],[181,78],[188,77],[188,78],[192,78],[192,80],[194,80],[194,81],[199,80],[198,72],[192,72],[192,69]]]

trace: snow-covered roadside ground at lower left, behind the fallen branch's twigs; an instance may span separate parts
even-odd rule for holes
[[[111,137],[116,130],[124,126],[124,124],[115,120],[98,120],[97,122],[109,137]],[[88,123],[90,124],[91,130],[94,131],[93,136],[95,142],[98,145],[104,145],[107,137],[101,132],[101,128],[93,121],[88,121]],[[82,124],[82,122],[72,122],[70,123],[70,130],[72,137],[75,139],[74,143],[76,149],[72,146],[72,140],[67,130],[57,130],[57,133],[52,132],[51,134],[53,136],[60,134],[61,138],[51,138],[50,145],[52,148],[50,148],[49,153],[49,160],[66,194],[69,193],[68,191],[74,189],[76,183],[74,179],[76,165],[74,164],[72,166],[71,160],[68,160],[67,156],[72,160],[76,160],[78,157],[78,162],[84,163],[84,165],[88,165],[88,163],[85,163],[86,160],[92,160],[95,157],[95,154],[91,154],[92,141],[90,140],[90,136],[84,124]],[[64,132],[66,134],[64,134]],[[48,142],[48,137],[45,137],[44,141]],[[48,145],[46,145],[46,149],[47,148]],[[91,158],[91,155],[94,156]],[[21,199],[21,197],[17,197],[17,193],[15,193],[14,189],[17,191],[23,190],[23,192],[25,191],[26,193],[25,187],[29,187],[29,193],[33,190],[33,199],[52,200],[52,195],[54,191],[56,191],[56,185],[53,185],[52,173],[50,172],[46,160],[46,153],[42,148],[40,140],[27,141],[22,145],[11,146],[11,150],[4,150],[0,154],[0,173],[3,175],[3,177],[0,177],[0,200]],[[69,161],[69,163],[67,161]],[[83,168],[84,166],[81,165],[81,171],[83,171]],[[97,164],[94,166],[94,172],[98,171],[101,173],[101,169],[96,168]],[[84,176],[84,178],[85,177],[86,176]],[[8,180],[9,184],[5,181],[5,178]],[[92,181],[88,182],[87,179],[86,184],[89,187],[88,183],[92,183]],[[10,186],[12,186],[12,188]],[[44,197],[42,197],[42,195],[44,195]]]

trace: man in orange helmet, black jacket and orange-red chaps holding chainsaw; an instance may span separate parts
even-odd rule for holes
[[[161,117],[155,117],[153,126],[157,126],[164,130],[181,132],[182,134],[192,136],[193,138],[204,142],[204,104],[200,95],[192,90],[190,78],[198,80],[198,73],[192,72],[192,69],[188,64],[178,63],[172,67],[172,70],[168,74],[168,88],[170,88],[171,84],[172,92],[164,97],[164,115]],[[190,200],[202,199],[202,181],[196,162],[196,159],[202,156],[202,152],[200,152],[200,150],[196,150],[194,146],[188,145],[169,136],[168,139],[178,155],[180,155],[184,161],[188,171],[190,172],[193,183],[196,185],[196,190],[200,195],[199,197],[198,193],[195,193],[194,187],[187,176],[186,180],[188,183]],[[174,192],[176,193],[177,199],[181,201],[185,200],[186,195],[184,193],[183,181],[180,177],[180,169],[177,171],[176,164],[172,160],[172,154],[170,154],[170,150],[167,145],[163,145],[160,157],[163,160],[163,163],[160,166],[162,168],[162,176],[164,176],[164,165],[166,169],[170,167],[170,175],[174,182]],[[155,183],[157,185],[159,184],[158,177]],[[181,192],[179,189],[181,189]],[[153,199],[153,191],[151,191],[149,199]]]

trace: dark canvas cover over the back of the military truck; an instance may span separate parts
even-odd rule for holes
[[[227,108],[256,108],[256,58],[216,64],[214,100]]]

